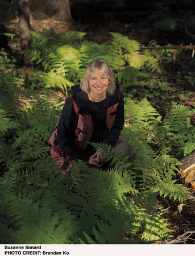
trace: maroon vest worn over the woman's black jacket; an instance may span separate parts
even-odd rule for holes
[[[74,101],[73,101],[73,104],[74,104],[74,112],[78,116],[77,127],[73,134],[74,142],[77,144],[78,147],[83,148],[85,150],[94,130],[92,116],[91,114],[85,114],[85,115],[79,114],[78,107]],[[107,109],[106,126],[109,129],[109,131],[111,127],[113,127],[115,116],[116,116],[116,114],[111,115],[111,113],[117,112],[118,104],[119,102]],[[57,124],[59,122],[59,119],[57,121]],[[57,144],[57,141],[56,141],[57,124],[48,142],[52,145],[52,149],[51,149],[52,159],[55,160],[55,164],[58,166],[58,168],[66,169],[65,171],[62,170],[63,174],[65,175],[67,171],[69,171],[68,167],[72,167],[73,160],[71,160],[68,155],[64,156],[63,151],[61,151],[59,144]],[[119,135],[119,138],[122,138],[121,134]]]

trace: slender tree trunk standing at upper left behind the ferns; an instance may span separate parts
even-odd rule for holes
[[[31,25],[28,0],[17,0],[20,46],[21,49],[31,49]]]

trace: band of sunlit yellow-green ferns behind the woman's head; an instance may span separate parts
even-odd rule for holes
[[[36,74],[40,86],[59,88],[66,94],[73,84],[80,84],[84,69],[94,59],[105,59],[115,76],[125,84],[131,82],[132,75],[140,76],[139,70],[144,65],[153,72],[160,72],[155,57],[140,53],[140,43],[119,33],[110,34],[110,41],[98,44],[84,40],[85,33],[78,31],[63,34],[32,31],[32,50],[25,54],[42,69]],[[119,75],[118,70],[121,70]]]

